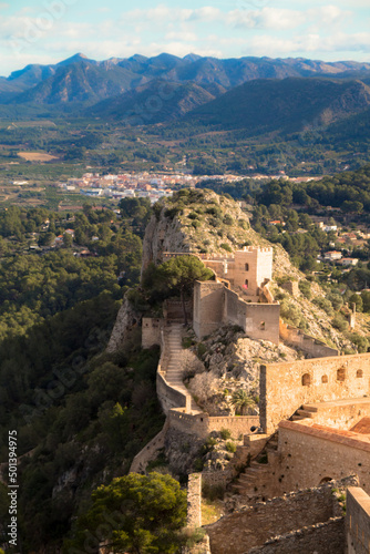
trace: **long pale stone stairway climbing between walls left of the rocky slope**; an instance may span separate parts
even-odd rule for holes
[[[182,367],[182,337],[183,325],[171,324],[165,329],[164,340],[166,345],[166,363],[165,378],[167,383],[174,389],[179,390],[183,394],[191,396],[185,384],[183,383],[183,367]],[[202,410],[192,398],[192,413],[201,413]]]

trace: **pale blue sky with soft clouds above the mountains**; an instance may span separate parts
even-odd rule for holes
[[[78,52],[370,62],[370,0],[0,0],[0,75]]]

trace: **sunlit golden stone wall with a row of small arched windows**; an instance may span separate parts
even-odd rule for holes
[[[304,376],[310,384],[302,384]],[[305,403],[369,394],[369,379],[370,353],[261,366],[261,427],[266,433],[274,432],[279,421]]]

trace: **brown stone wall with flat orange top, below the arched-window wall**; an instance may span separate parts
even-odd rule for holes
[[[281,421],[278,452],[276,474],[284,491],[356,473],[360,486],[370,492],[370,442],[357,433]]]

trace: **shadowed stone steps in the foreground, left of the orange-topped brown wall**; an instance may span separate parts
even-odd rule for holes
[[[263,451],[245,469],[244,473],[240,473],[238,480],[232,485],[233,491],[246,497],[256,496],[257,491],[260,489],[260,483],[270,473],[271,468],[269,462],[273,456],[277,455],[277,448],[278,435],[275,433],[267,441]]]

